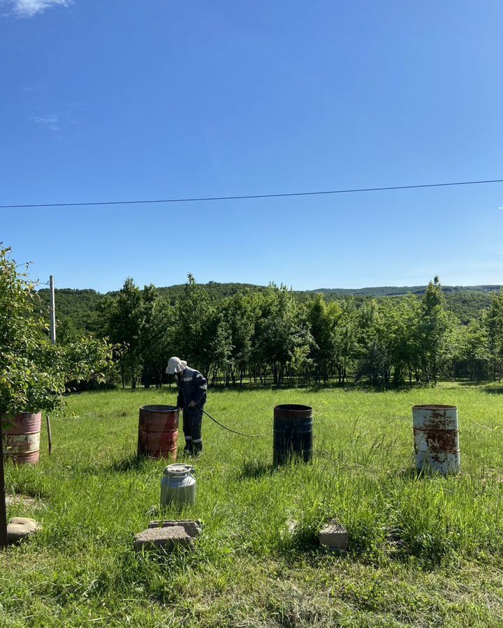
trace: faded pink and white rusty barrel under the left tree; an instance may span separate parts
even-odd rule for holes
[[[3,459],[17,465],[36,465],[40,454],[42,412],[21,412],[2,419]]]

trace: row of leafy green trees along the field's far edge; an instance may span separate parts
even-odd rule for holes
[[[389,388],[503,375],[503,292],[465,324],[446,308],[438,278],[422,295],[339,301],[299,299],[274,284],[216,301],[191,275],[173,301],[128,278],[99,301],[94,327],[115,346],[124,387],[166,381],[171,355],[227,386],[351,380]],[[76,333],[59,331],[63,341]]]

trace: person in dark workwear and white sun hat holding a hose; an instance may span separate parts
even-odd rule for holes
[[[203,451],[203,406],[206,403],[207,381],[195,368],[187,366],[187,362],[177,357],[168,361],[168,375],[175,375],[178,387],[178,408],[183,408],[183,431],[185,437],[185,453],[201,454]]]

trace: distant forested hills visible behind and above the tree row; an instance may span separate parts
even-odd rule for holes
[[[245,291],[262,291],[265,286],[251,283],[219,283],[210,281],[201,284],[207,294],[218,303],[227,297]],[[159,296],[166,299],[170,305],[175,305],[177,300],[184,293],[185,284],[158,287],[156,290]],[[481,311],[490,306],[491,297],[495,292],[502,289],[502,285],[444,285],[442,292],[446,297],[446,309],[455,314],[460,322],[468,324],[471,320],[479,317]],[[365,299],[386,297],[404,297],[407,294],[423,295],[426,285],[414,286],[377,286],[363,288],[319,288],[318,290],[293,290],[293,294],[300,301],[312,298],[315,294],[323,294],[327,302],[341,301],[344,297],[354,297],[356,304],[362,304]],[[105,297],[117,297],[119,290],[107,292],[105,294],[96,290],[73,290],[72,288],[57,288],[57,320],[64,327],[69,326],[78,331],[94,331],[96,324],[96,311],[98,304]],[[49,316],[49,290],[42,288],[38,290],[41,297],[41,307],[43,314],[48,320]]]

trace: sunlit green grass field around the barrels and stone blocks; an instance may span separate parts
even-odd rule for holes
[[[6,465],[8,493],[36,497],[9,516],[43,530],[0,552],[0,626],[500,627],[502,390],[210,391],[215,418],[268,435],[204,419],[196,504],[165,514],[200,518],[203,536],[194,552],[145,555],[133,534],[159,517],[166,461],[136,462],[138,409],[174,391],[71,396],[52,456],[44,428],[38,466]],[[272,470],[277,403],[314,408],[312,464]],[[458,406],[458,477],[412,472],[415,403]],[[346,555],[317,544],[332,517]]]

